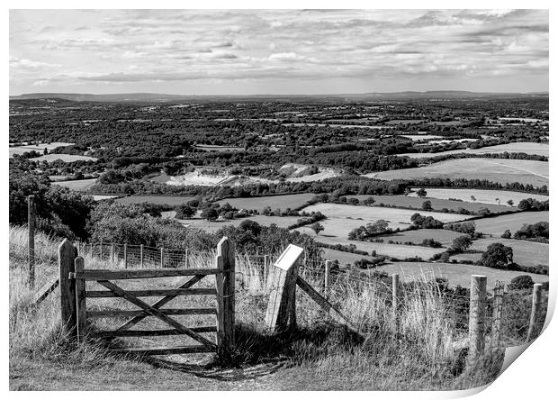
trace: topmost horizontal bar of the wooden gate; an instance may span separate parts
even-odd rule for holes
[[[85,280],[145,279],[151,277],[192,277],[193,275],[216,275],[226,271],[217,268],[166,268],[166,269],[87,269]]]

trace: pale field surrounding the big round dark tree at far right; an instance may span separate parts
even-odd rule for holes
[[[479,239],[473,241],[471,250],[484,251],[491,243],[502,243],[513,249],[513,260],[519,265],[527,267],[535,267],[537,265],[548,266],[548,244],[537,243],[535,241],[515,241],[513,239]],[[470,261],[478,261],[481,259],[481,253],[457,254],[452,259],[467,259]]]

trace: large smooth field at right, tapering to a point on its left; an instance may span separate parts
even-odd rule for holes
[[[374,172],[365,177],[378,179],[488,179],[507,184],[519,182],[548,186],[548,162],[527,159],[448,159],[418,167]]]

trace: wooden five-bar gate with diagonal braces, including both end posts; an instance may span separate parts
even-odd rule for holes
[[[234,345],[234,292],[235,292],[235,250],[228,238],[222,238],[217,248],[215,268],[169,268],[169,269],[87,269],[84,259],[77,256],[76,247],[67,240],[59,248],[60,305],[62,321],[67,331],[78,341],[87,337],[144,337],[184,334],[199,344],[154,349],[122,349],[144,355],[217,352],[226,356]],[[188,277],[175,288],[149,288],[146,290],[127,290],[115,284],[115,280],[147,279],[157,277]],[[193,287],[205,277],[215,277],[214,287]],[[89,290],[88,282],[96,282],[106,290]],[[215,308],[163,308],[180,295],[214,295]],[[139,297],[159,298],[148,304]],[[87,309],[87,299],[94,297],[119,297],[127,300],[139,310]],[[174,315],[214,314],[215,325],[188,327],[173,318]],[[87,321],[91,318],[127,317],[113,331],[87,332]],[[164,330],[132,330],[137,323],[147,317],[155,317],[166,323]],[[215,332],[216,341],[211,341],[202,333]]]

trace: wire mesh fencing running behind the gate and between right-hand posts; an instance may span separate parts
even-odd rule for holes
[[[53,262],[52,252],[36,251],[37,259]],[[79,255],[102,261],[109,268],[206,268],[215,259],[214,251],[166,249],[138,244],[77,243]],[[266,308],[273,286],[273,267],[277,255],[236,255],[236,314],[239,322],[264,328]],[[326,272],[323,259],[304,258],[298,274],[328,299],[347,320],[362,332],[381,324],[392,326],[394,332],[405,332],[413,321],[444,321],[451,326],[455,338],[469,334],[471,307],[482,324],[486,345],[512,346],[527,340],[531,320],[531,296],[526,292],[505,290],[499,282],[484,299],[472,302],[467,289],[448,290],[435,279],[404,281],[395,289],[391,277],[379,278],[374,270],[348,273]],[[395,294],[394,294],[395,290]],[[548,293],[544,292],[541,310],[535,315],[536,337],[545,323]],[[296,291],[296,314],[301,326],[330,323],[332,316],[320,305]],[[430,322],[428,321],[430,319]]]

